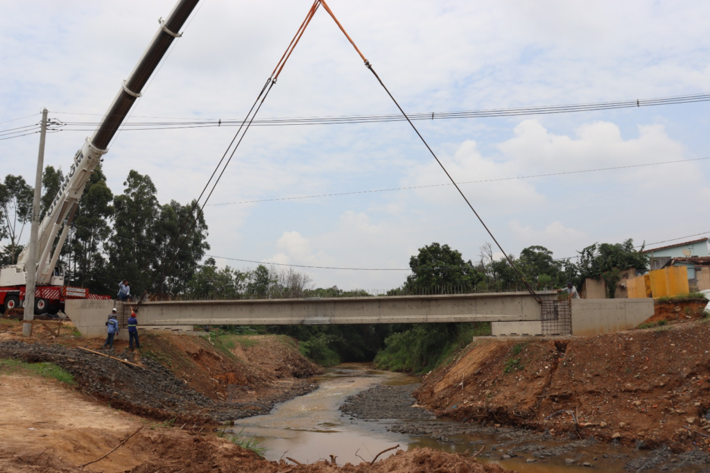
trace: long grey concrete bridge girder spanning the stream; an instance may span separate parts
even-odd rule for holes
[[[540,320],[540,304],[528,293],[156,301],[139,317],[144,326],[501,322]]]

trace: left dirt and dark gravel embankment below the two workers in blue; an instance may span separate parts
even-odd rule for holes
[[[0,358],[53,362],[96,401],[181,423],[268,413],[315,389],[310,377],[322,371],[286,337],[148,335],[139,352],[128,352],[126,342],[114,345],[114,357],[127,364],[79,348],[100,351],[101,341],[77,337],[71,327],[60,337],[38,330],[29,343],[18,336],[19,323],[3,320],[0,330]]]

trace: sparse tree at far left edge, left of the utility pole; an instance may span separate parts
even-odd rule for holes
[[[19,244],[25,224],[31,220],[33,190],[20,175],[8,174],[0,183],[0,235],[10,239],[1,255],[3,264],[14,264],[22,251]]]

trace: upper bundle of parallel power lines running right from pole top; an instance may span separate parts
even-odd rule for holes
[[[655,99],[632,99],[616,102],[596,102],[586,104],[547,105],[541,107],[515,107],[500,109],[467,110],[460,112],[420,112],[402,116],[400,114],[376,115],[346,115],[346,116],[296,116],[281,118],[255,119],[252,126],[295,126],[295,125],[334,125],[334,124],[362,124],[383,123],[390,121],[410,120],[440,120],[464,118],[488,118],[496,116],[523,116],[539,114],[560,114],[572,112],[594,112],[598,110],[626,109],[639,107],[654,107],[658,105],[687,104],[694,102],[708,102],[710,94],[679,95],[674,97],[660,97]],[[54,114],[98,115],[82,114],[76,112],[53,112]],[[190,129],[204,127],[240,126],[244,124],[240,119],[203,119],[162,116],[136,116],[136,118],[162,119],[173,121],[136,121],[126,123],[129,130],[150,129]],[[67,130],[86,131],[91,129],[72,128],[95,125],[94,121],[67,121],[62,122]]]

